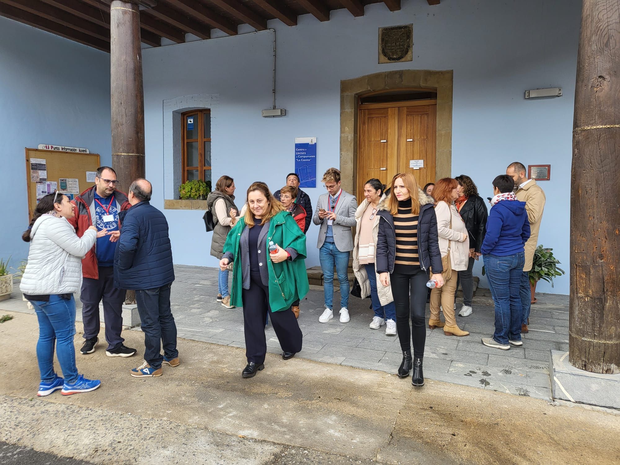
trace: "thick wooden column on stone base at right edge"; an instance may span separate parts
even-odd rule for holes
[[[583,0],[570,185],[569,361],[620,373],[620,1]]]

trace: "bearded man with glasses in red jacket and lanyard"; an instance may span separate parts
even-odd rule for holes
[[[114,253],[120,235],[118,213],[130,208],[127,195],[117,190],[117,175],[109,166],[97,169],[95,185],[74,198],[75,215],[69,223],[76,228],[79,237],[90,227],[107,229],[108,235],[100,237],[95,246],[82,259],[82,322],[84,324],[84,345],[82,355],[95,352],[99,343],[99,303],[104,303],[105,340],[108,343],[105,355],[128,357],[136,349],[125,347],[121,337],[123,330],[124,289],[114,286]]]

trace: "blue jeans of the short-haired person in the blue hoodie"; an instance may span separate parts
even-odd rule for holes
[[[507,344],[521,340],[521,277],[525,254],[519,252],[507,257],[484,255],[484,267],[495,303],[495,342]]]

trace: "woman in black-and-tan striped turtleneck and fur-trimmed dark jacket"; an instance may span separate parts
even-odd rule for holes
[[[398,376],[414,370],[411,383],[423,386],[422,358],[426,341],[427,282],[443,285],[437,219],[433,198],[418,187],[410,173],[394,176],[390,197],[379,203],[376,270],[383,286],[392,286],[402,363]],[[409,327],[411,320],[411,328]],[[411,354],[413,341],[414,355]]]

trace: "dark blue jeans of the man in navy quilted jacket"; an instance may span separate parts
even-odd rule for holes
[[[161,288],[136,290],[136,304],[144,332],[144,360],[160,368],[164,358],[177,358],[177,325],[170,311],[170,284]],[[161,344],[160,344],[161,342]]]

